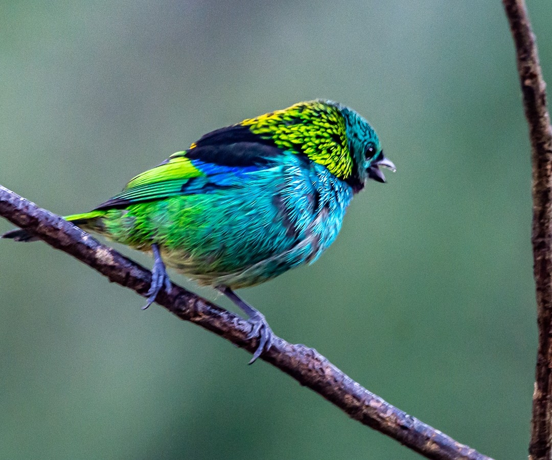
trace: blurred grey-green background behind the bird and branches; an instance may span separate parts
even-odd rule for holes
[[[552,3],[529,7],[552,82]],[[367,117],[397,173],[319,262],[241,294],[400,409],[526,457],[530,160],[500,2],[4,0],[0,17],[0,184],[62,215],[246,117],[316,97]],[[143,304],[44,243],[0,242],[1,458],[418,458]]]

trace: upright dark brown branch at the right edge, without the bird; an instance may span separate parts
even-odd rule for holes
[[[523,0],[503,0],[516,48],[533,163],[533,274],[539,344],[535,369],[529,459],[550,459],[552,428],[552,127],[546,84]]]

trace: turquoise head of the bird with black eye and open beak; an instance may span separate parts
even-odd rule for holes
[[[385,182],[385,176],[380,168],[395,172],[392,161],[385,158],[378,139],[378,135],[370,124],[353,109],[338,106],[345,119],[349,154],[352,159],[351,175],[346,182],[353,191],[359,192],[364,188],[368,179]]]

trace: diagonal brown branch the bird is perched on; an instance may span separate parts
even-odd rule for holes
[[[52,247],[71,254],[110,281],[129,287],[140,295],[145,295],[150,286],[150,270],[1,185],[0,216],[36,234]],[[252,353],[257,347],[257,339],[246,340],[251,331],[250,323],[183,287],[173,284],[170,292],[160,292],[156,302],[182,320],[197,323],[248,352]],[[274,337],[273,346],[262,354],[261,359],[333,402],[353,419],[427,458],[492,460],[370,393],[312,348]]]

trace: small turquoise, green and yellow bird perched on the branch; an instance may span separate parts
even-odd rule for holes
[[[385,158],[373,127],[328,100],[296,103],[216,129],[135,176],[76,226],[152,253],[146,309],[171,289],[166,266],[214,287],[248,315],[247,339],[274,334],[263,314],[235,290],[311,264],[335,241],[347,207],[369,179],[385,182]],[[2,236],[39,239],[24,229]]]

